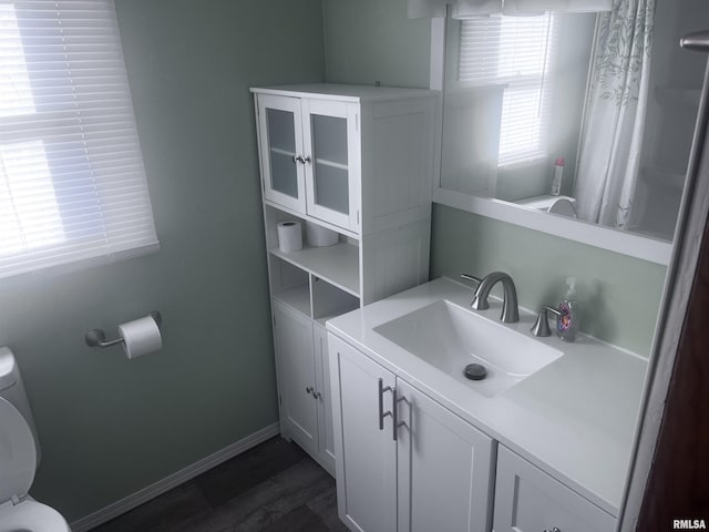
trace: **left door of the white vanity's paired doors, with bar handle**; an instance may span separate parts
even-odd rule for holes
[[[397,442],[391,412],[393,374],[328,335],[336,427],[338,515],[353,531],[397,530]],[[382,401],[380,402],[380,397]],[[381,428],[380,428],[381,427]]]

